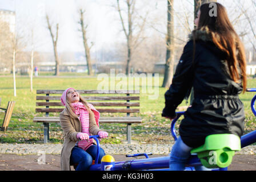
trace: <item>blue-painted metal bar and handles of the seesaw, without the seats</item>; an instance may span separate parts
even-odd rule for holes
[[[256,89],[247,89],[247,92],[256,92]],[[253,100],[251,100],[251,110],[256,116],[256,111],[254,109],[255,100],[256,100],[256,95],[253,97]],[[181,115],[183,115],[184,113],[185,113],[184,111],[177,112],[177,117],[173,119],[173,121],[171,122],[171,135],[173,135],[174,140],[177,140],[177,135],[174,127],[175,123],[178,121],[179,117],[181,117]],[[91,136],[91,138],[94,138],[96,140],[99,148],[99,142],[97,137],[98,136]],[[252,131],[251,133],[247,133],[241,137],[242,148],[249,146],[250,144],[253,144],[255,142],[256,142],[256,130]],[[145,156],[148,157],[147,155]],[[98,158],[98,155],[97,155],[97,158]],[[166,168],[169,168],[169,160],[170,160],[170,156],[164,156],[159,158],[126,160],[122,162],[115,162],[114,170],[115,171],[127,171],[127,170],[136,171],[136,170],[146,170],[146,169],[166,169]],[[95,164],[90,167],[90,171],[101,170],[101,164],[97,163],[98,159],[96,159],[95,161],[96,161]],[[197,158],[197,155],[191,155],[189,163],[186,166],[187,167],[202,166],[202,163]]]

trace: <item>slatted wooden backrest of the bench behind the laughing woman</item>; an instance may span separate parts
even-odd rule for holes
[[[49,113],[61,113],[65,108],[60,101],[63,91],[64,90],[37,90],[36,106],[38,107],[35,108],[35,111],[37,113],[46,113],[46,116],[49,116]],[[130,113],[139,113],[139,102],[130,102],[139,101],[139,96],[130,96],[131,94],[138,95],[139,90],[77,91],[87,102],[95,106],[100,113],[126,113],[127,116],[129,116]],[[90,96],[90,94],[92,96]]]

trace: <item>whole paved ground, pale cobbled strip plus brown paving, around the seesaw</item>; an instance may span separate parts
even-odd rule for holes
[[[102,144],[106,154],[113,155],[115,161],[132,160],[125,154],[152,152],[150,158],[167,156],[172,144]],[[59,171],[62,144],[6,144],[0,143],[0,171]],[[17,155],[18,154],[18,155]],[[38,159],[45,155],[46,163]],[[256,146],[247,146],[237,152],[229,170],[256,171]],[[138,157],[145,158],[143,156]],[[71,167],[72,170],[73,167]]]

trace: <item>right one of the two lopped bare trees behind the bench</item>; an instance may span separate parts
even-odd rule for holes
[[[93,68],[91,66],[90,49],[93,46],[93,43],[91,43],[90,47],[88,46],[88,43],[87,43],[86,29],[87,29],[88,25],[85,24],[85,19],[84,19],[85,10],[80,9],[79,13],[80,13],[79,24],[81,26],[81,32],[82,32],[82,36],[83,36],[83,47],[85,48],[85,57],[86,57],[86,61],[87,61],[88,75],[92,75],[93,74]]]

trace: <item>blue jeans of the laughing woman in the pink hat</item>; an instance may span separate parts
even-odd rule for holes
[[[93,160],[96,159],[97,155],[97,146],[92,145],[86,151],[82,150],[75,146],[71,151],[70,163],[78,164],[75,171],[85,171],[88,170],[93,163]],[[101,162],[101,158],[105,155],[105,151],[102,148],[99,148],[99,163]]]

